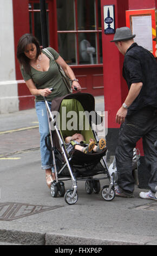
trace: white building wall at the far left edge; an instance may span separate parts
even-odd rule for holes
[[[0,113],[18,111],[12,0],[0,1]]]

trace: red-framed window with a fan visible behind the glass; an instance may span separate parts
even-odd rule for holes
[[[100,0],[57,0],[58,49],[70,65],[102,63]]]

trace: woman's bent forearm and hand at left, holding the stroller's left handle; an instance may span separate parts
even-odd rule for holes
[[[25,83],[28,89],[30,90],[31,95],[34,95],[34,96],[41,95],[41,96],[47,97],[48,95],[51,94],[51,90],[49,88],[37,89],[32,79],[27,80]]]

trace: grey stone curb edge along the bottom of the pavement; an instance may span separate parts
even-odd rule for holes
[[[12,245],[146,245],[146,243],[93,239],[91,237],[80,237],[61,235],[53,233],[35,233],[21,230],[0,230],[0,244],[10,243]],[[153,243],[147,243],[147,245]]]

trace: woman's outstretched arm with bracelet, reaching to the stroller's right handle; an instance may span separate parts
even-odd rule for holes
[[[74,72],[73,70],[70,68],[70,66],[64,61],[64,59],[59,56],[57,59],[56,59],[56,62],[58,64],[61,65],[62,69],[64,70],[64,72],[66,73],[66,75],[71,79],[71,80],[74,80],[76,79],[75,75],[74,75]],[[81,91],[81,86],[80,84],[77,82],[77,81],[73,81],[72,83],[72,88],[74,89],[74,87],[77,88],[77,91]]]

